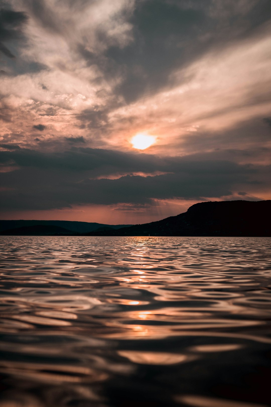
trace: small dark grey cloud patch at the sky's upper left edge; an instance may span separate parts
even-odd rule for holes
[[[9,58],[15,58],[15,55],[4,43],[22,39],[22,27],[26,21],[27,16],[21,11],[0,9],[0,51]]]

